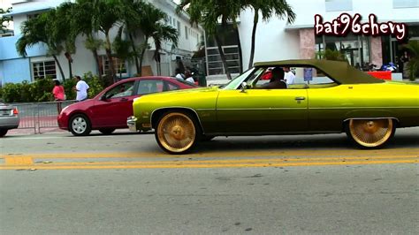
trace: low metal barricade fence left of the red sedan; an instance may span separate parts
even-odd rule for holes
[[[58,105],[61,109],[75,101],[63,102],[27,102],[11,103],[19,110],[20,123],[18,129],[33,129],[34,133],[42,133],[42,128],[58,127]]]

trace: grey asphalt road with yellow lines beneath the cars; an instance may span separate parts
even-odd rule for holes
[[[0,140],[1,234],[419,233],[419,128],[217,137],[166,155],[152,133]]]

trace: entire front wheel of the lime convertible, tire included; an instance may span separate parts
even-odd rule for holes
[[[194,148],[201,128],[196,118],[187,112],[166,112],[157,121],[156,141],[160,148],[169,154],[186,154]]]

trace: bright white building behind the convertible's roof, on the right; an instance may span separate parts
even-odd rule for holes
[[[378,22],[406,23],[409,39],[419,40],[419,1],[417,0],[286,0],[286,2],[293,7],[296,14],[295,21],[293,24],[287,24],[285,19],[278,19],[274,15],[268,22],[264,22],[262,17],[259,17],[254,62],[314,58],[316,51],[331,47],[344,53],[353,65],[368,62],[379,66],[398,62],[401,54],[399,45],[406,41],[398,42],[395,37],[389,35],[316,36],[314,32],[316,14],[323,16],[324,21],[331,21],[344,12],[352,16],[359,13],[362,21],[365,21],[369,14],[373,13],[377,16]],[[254,11],[246,10],[240,14],[238,31],[243,70],[248,69],[253,19]],[[232,44],[234,43],[228,46],[238,45],[238,43]],[[211,63],[219,65],[217,52],[207,48],[207,55],[209,56],[208,74],[219,76],[220,73],[224,73],[222,70],[211,70]],[[234,72],[235,69],[230,71]]]

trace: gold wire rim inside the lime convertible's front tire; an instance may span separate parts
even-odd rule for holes
[[[174,153],[187,151],[195,141],[194,122],[183,113],[167,114],[159,122],[156,131],[160,144]]]

